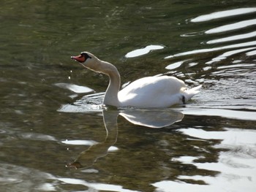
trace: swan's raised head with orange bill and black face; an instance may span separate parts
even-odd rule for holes
[[[89,52],[82,52],[78,56],[71,56],[72,59],[93,71],[99,71],[99,59]]]

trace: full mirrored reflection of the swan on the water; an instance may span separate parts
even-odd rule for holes
[[[78,155],[74,162],[67,166],[74,166],[76,169],[92,166],[98,158],[108,154],[108,149],[116,143],[118,135],[117,117],[118,114],[129,120],[129,122],[140,126],[160,128],[183,118],[181,112],[172,110],[103,110],[103,120],[107,136],[104,142],[92,145]]]

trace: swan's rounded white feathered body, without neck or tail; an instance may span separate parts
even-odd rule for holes
[[[118,92],[121,107],[170,107],[183,103],[186,85],[176,77],[144,77]]]

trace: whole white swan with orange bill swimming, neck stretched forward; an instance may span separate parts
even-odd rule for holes
[[[107,74],[110,82],[103,99],[103,104],[115,107],[170,107],[173,104],[184,104],[199,93],[201,85],[187,89],[182,80],[176,77],[143,77],[135,80],[119,91],[120,74],[116,66],[101,61],[91,53],[83,52],[72,56],[84,67],[94,72]]]

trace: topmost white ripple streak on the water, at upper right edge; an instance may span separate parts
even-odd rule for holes
[[[200,15],[197,18],[191,20],[191,22],[203,22],[207,20],[214,20],[219,18],[227,18],[234,15],[242,15],[250,12],[256,12],[256,7],[252,8],[241,8],[241,9],[230,9],[221,12],[212,12],[207,15]]]

